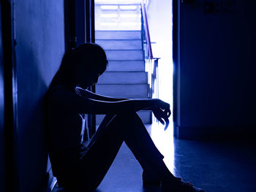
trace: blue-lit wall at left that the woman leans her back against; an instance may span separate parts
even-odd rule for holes
[[[64,53],[64,1],[15,1],[18,172],[22,191],[53,180],[45,146],[43,97]]]

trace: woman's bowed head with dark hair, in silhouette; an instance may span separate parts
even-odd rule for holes
[[[88,88],[105,72],[108,60],[105,51],[97,44],[86,43],[64,54],[56,76],[59,83],[69,87]]]

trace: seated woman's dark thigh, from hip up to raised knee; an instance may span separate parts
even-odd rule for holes
[[[90,192],[98,187],[116,158],[125,134],[126,128],[116,115],[106,115],[81,159],[80,188]]]

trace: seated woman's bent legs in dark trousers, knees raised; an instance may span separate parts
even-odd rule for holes
[[[153,168],[161,177],[172,176],[135,112],[107,115],[81,160],[83,176],[80,184],[86,187],[86,191],[94,191],[101,183],[124,141],[144,170]]]

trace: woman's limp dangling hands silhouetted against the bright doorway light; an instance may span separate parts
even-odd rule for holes
[[[169,117],[170,117],[170,104],[165,103],[164,101],[160,99],[154,100],[154,106],[151,108],[152,112],[154,113],[154,116],[157,118],[157,120],[162,123],[162,125],[165,125],[165,130],[169,126]]]

